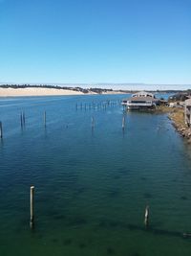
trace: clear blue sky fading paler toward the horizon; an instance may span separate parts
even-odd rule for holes
[[[0,81],[191,84],[191,0],[0,0]]]

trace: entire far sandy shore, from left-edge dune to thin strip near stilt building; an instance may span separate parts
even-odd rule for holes
[[[108,91],[98,94],[96,92],[83,93],[81,91],[56,89],[56,88],[2,88],[0,87],[0,98],[7,97],[32,97],[32,96],[80,96],[80,95],[115,95],[126,94],[117,91]]]

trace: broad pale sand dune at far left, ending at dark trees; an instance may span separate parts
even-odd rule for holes
[[[73,90],[60,90],[54,88],[0,88],[0,97],[18,96],[51,96],[51,95],[84,95],[82,92]]]

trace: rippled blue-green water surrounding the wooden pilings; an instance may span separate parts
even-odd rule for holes
[[[166,115],[124,114],[122,98],[0,100],[0,255],[191,255],[191,150]]]

